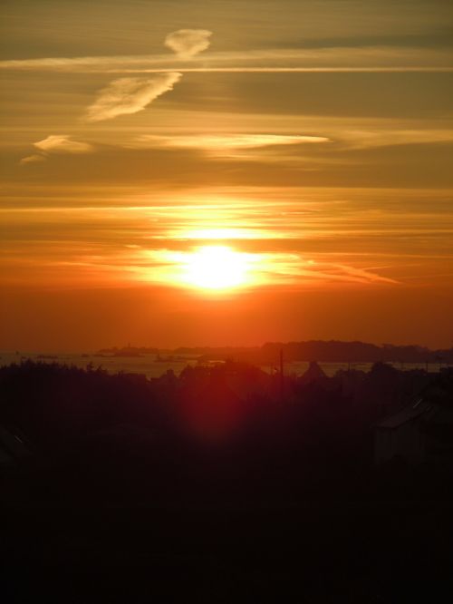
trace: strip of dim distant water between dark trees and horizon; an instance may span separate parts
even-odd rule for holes
[[[40,354],[40,353],[11,353],[5,352],[0,353],[0,366],[11,365],[12,363],[21,363],[31,359],[32,361],[41,361],[43,363],[59,363],[61,365],[76,365],[77,367],[86,367],[92,364],[95,369],[101,366],[102,369],[107,370],[111,374],[116,374],[120,371],[127,374],[143,374],[149,377],[159,377],[159,375],[165,374],[169,369],[172,369],[175,374],[179,375],[180,372],[187,365],[198,365],[197,359],[193,356],[184,358],[178,358],[169,361],[158,361],[156,355],[146,356],[101,356],[101,355],[81,355],[72,353],[62,354]],[[304,361],[294,361],[291,363],[284,364],[284,372],[287,375],[303,375],[308,369],[308,363]],[[339,369],[347,369],[347,363],[319,363],[323,368],[323,372],[326,375],[335,375]],[[426,369],[424,363],[393,363],[393,366],[398,369]],[[277,364],[275,363],[275,367]],[[370,371],[372,363],[352,363],[351,368],[359,369],[361,371]],[[267,373],[271,372],[273,368],[270,365],[262,367]],[[439,365],[431,363],[429,364],[430,371],[439,371]]]

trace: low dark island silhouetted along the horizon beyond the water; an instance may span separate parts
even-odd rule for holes
[[[424,346],[377,346],[366,342],[308,340],[303,342],[266,342],[263,346],[180,346],[163,350],[155,346],[113,346],[101,348],[101,356],[146,356],[162,353],[172,358],[193,357],[201,361],[234,358],[258,365],[275,363],[283,352],[284,361],[320,361],[323,363],[453,363],[453,347],[430,350]]]

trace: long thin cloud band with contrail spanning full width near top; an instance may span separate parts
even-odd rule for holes
[[[205,41],[208,44],[208,41]],[[199,43],[201,44],[201,42]],[[194,45],[195,47],[195,45]],[[49,57],[0,61],[0,69],[71,73],[304,73],[304,72],[451,72],[448,49],[375,47],[275,48],[208,52],[203,56],[148,54],[131,56]],[[188,66],[182,63],[191,58]]]

